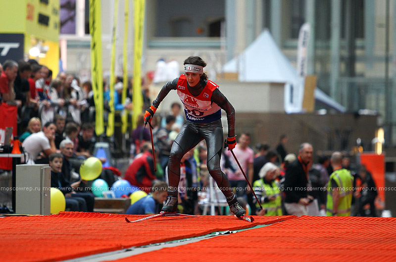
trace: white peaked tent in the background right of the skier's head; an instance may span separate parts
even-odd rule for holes
[[[238,73],[240,82],[285,83],[285,94],[297,83],[297,71],[279,49],[269,31],[264,30],[238,57],[223,67],[225,73]],[[345,107],[315,88],[315,100],[345,112]]]

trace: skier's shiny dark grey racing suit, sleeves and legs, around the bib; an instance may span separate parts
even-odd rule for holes
[[[152,102],[155,108],[165,98],[170,90],[176,90],[179,78],[166,83],[157,98]],[[200,81],[197,87],[188,87],[192,95],[197,96],[205,87],[206,81]],[[216,103],[221,109],[227,113],[228,136],[235,136],[235,110],[227,98],[220,92],[218,88],[213,90],[211,102]],[[220,157],[223,147],[223,127],[221,119],[209,123],[193,123],[186,120],[186,123],[180,130],[179,134],[173,142],[168,162],[168,195],[177,195],[177,187],[180,180],[180,161],[184,154],[194,148],[199,141],[205,139],[207,147],[206,165],[209,174],[216,181],[219,189],[223,192],[229,205],[237,202],[232,191],[230,181],[220,169]]]

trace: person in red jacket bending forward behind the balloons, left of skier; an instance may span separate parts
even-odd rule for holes
[[[124,179],[131,185],[138,186],[140,190],[149,193],[154,174],[154,160],[152,158],[151,143],[145,142],[142,146],[143,153],[137,156],[125,172]]]

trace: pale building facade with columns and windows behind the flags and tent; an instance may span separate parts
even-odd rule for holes
[[[67,71],[89,78],[89,1],[74,2],[76,30],[61,34],[60,45],[67,50]],[[103,72],[110,68],[113,2],[102,1]],[[123,6],[124,0],[119,0],[118,14]],[[129,6],[133,14],[132,2]],[[145,14],[143,72],[155,70],[160,58],[175,59],[181,65],[187,56],[199,55],[207,61],[212,79],[265,28],[295,65],[298,32],[308,22],[307,73],[318,77],[317,87],[349,112],[378,112],[386,145],[396,145],[396,105],[392,102],[396,92],[395,0],[147,0]],[[130,20],[128,66],[132,72],[132,15]],[[122,68],[122,32],[119,15],[116,74]],[[265,57],[257,59],[265,63]]]

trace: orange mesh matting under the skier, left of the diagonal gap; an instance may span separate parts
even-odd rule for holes
[[[296,218],[256,217],[253,223],[234,218],[165,217],[137,223],[146,216],[62,212],[59,215],[0,218],[1,261],[59,261],[133,246],[236,230]]]

